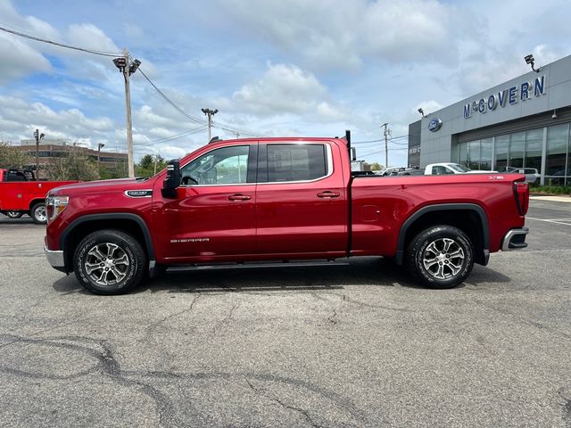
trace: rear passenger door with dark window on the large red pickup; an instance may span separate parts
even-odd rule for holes
[[[338,147],[323,142],[260,144],[257,246],[262,254],[347,251],[347,194]]]

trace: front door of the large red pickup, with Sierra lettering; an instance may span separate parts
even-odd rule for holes
[[[255,252],[257,148],[213,149],[182,166],[178,197],[163,199],[155,223],[167,259],[220,261]]]

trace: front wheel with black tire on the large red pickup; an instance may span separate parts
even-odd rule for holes
[[[147,260],[137,240],[120,230],[87,235],[73,254],[79,283],[95,294],[123,294],[145,277]]]

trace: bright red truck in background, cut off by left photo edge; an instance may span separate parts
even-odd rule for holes
[[[54,187],[77,181],[37,181],[31,169],[0,169],[0,212],[9,218],[28,214],[46,224],[46,194]]]

